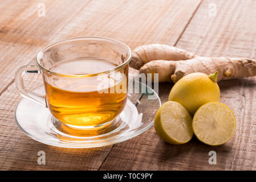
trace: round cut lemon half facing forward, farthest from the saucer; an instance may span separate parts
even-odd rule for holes
[[[196,137],[210,146],[219,146],[235,133],[235,117],[225,104],[208,102],[196,111],[192,127]]]

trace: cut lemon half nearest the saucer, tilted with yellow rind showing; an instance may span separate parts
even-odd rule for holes
[[[168,101],[156,113],[155,129],[170,144],[183,144],[193,137],[192,118],[184,106]]]

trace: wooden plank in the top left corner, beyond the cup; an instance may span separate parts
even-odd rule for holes
[[[0,93],[14,80],[17,68],[30,63],[88,0],[43,1],[46,16],[38,16],[38,3],[6,1],[0,7]]]

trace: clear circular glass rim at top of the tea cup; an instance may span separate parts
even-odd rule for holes
[[[86,39],[99,39],[99,40],[109,40],[111,42],[114,42],[114,43],[117,43],[117,44],[120,44],[121,46],[124,46],[125,48],[127,48],[128,50],[128,57],[127,59],[124,61],[124,63],[120,64],[120,65],[117,65],[115,68],[111,68],[111,69],[108,69],[107,71],[103,71],[103,72],[99,72],[99,73],[92,73],[92,74],[80,74],[80,75],[72,75],[72,74],[63,74],[63,73],[58,73],[58,72],[52,72],[50,71],[49,69],[47,68],[44,68],[42,64],[39,63],[39,60],[40,60],[40,55],[43,53],[43,51],[45,51],[46,49],[48,48],[51,48],[53,46],[56,46],[57,44],[60,44],[60,43],[65,43],[65,42],[70,42],[70,40],[86,40]],[[124,43],[121,43],[117,40],[114,40],[114,39],[110,39],[110,38],[105,38],[105,37],[101,37],[101,36],[76,36],[76,37],[72,37],[72,38],[67,38],[67,39],[62,39],[62,40],[58,40],[54,43],[51,43],[45,47],[43,47],[37,54],[36,56],[36,64],[38,65],[38,67],[40,69],[42,69],[43,72],[47,72],[51,75],[55,75],[55,76],[67,76],[67,77],[94,77],[94,76],[98,76],[98,75],[101,75],[101,74],[107,74],[107,73],[111,73],[111,72],[115,72],[121,68],[123,68],[125,65],[127,65],[129,63],[129,61],[131,61],[131,58],[132,58],[132,51],[131,51],[131,48],[129,48],[126,44]]]

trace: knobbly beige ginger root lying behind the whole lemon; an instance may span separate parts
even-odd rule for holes
[[[218,71],[217,81],[256,76],[256,61],[253,59],[202,57],[162,44],[137,47],[132,52],[130,66],[140,69],[140,73],[159,73],[159,82],[176,83],[180,78],[194,72],[209,75]]]

